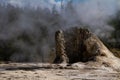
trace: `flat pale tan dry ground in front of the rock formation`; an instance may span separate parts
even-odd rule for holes
[[[0,80],[120,80],[110,67],[75,63],[70,66],[42,63],[0,64]]]

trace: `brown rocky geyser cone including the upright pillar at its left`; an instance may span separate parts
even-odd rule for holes
[[[88,29],[72,28],[55,33],[56,58],[54,63],[96,61],[120,69],[120,59]]]

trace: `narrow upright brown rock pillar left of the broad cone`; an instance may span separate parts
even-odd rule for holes
[[[68,57],[65,51],[65,40],[64,34],[61,30],[55,33],[55,41],[56,41],[56,58],[54,63],[68,63]]]

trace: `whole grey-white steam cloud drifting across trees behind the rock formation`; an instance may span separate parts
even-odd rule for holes
[[[79,1],[79,0],[78,0]],[[18,51],[13,61],[46,61],[54,48],[58,29],[89,26],[101,37],[109,37],[114,28],[107,21],[120,7],[118,0],[0,0],[0,40],[12,41]]]

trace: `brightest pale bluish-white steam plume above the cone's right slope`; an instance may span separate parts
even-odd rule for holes
[[[77,13],[81,21],[91,26],[97,35],[105,37],[114,30],[107,21],[117,11],[115,0],[91,0],[77,7]],[[107,33],[108,32],[108,33]]]

